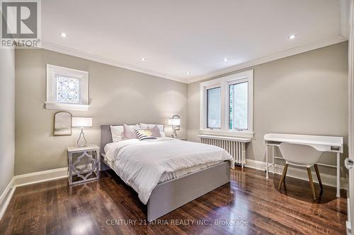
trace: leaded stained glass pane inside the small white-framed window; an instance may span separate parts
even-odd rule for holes
[[[57,102],[79,104],[79,79],[57,75]]]

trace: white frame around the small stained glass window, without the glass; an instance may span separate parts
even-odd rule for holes
[[[46,73],[46,109],[89,110],[89,72],[47,64]],[[57,102],[57,76],[79,80],[79,103]]]

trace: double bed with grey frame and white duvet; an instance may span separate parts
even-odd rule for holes
[[[234,167],[231,155],[212,145],[172,138],[113,143],[110,125],[101,126],[101,152],[147,205],[149,222],[228,183]]]

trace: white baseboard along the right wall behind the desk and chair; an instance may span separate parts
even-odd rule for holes
[[[246,167],[265,171],[265,166],[266,166],[265,162],[246,159]],[[269,170],[272,170],[272,169],[273,169],[273,167],[269,168]],[[275,164],[275,174],[282,174],[282,169],[284,169],[284,166]],[[321,174],[322,184],[327,185],[327,186],[336,187],[336,176],[333,176],[330,174],[322,174],[321,172],[320,172],[320,174]],[[302,179],[305,181],[309,180],[309,176],[307,176],[306,169],[293,168],[291,166],[289,166],[289,168],[287,169],[287,176],[290,176],[290,177],[296,178],[296,179]],[[318,183],[317,176],[314,171],[312,171],[312,179],[314,180],[314,182]],[[348,189],[348,179],[347,178],[341,177],[341,188]]]

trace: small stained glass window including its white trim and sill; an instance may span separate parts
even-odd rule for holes
[[[47,64],[47,109],[89,109],[89,73]]]

